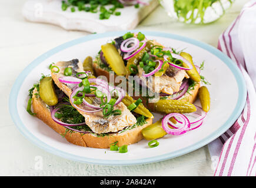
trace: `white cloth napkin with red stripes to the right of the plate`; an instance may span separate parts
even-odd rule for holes
[[[240,68],[247,100],[234,125],[208,144],[214,176],[256,176],[256,0],[222,33],[218,49]]]

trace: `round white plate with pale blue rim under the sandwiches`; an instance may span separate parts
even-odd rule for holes
[[[118,153],[109,149],[72,145],[41,120],[26,112],[28,90],[41,78],[41,73],[49,74],[50,63],[74,58],[83,61],[88,55],[95,56],[103,43],[124,33],[126,32],[109,32],[75,39],[31,62],[16,79],[10,94],[12,100],[9,100],[12,119],[20,132],[35,145],[67,159],[94,164],[127,165],[158,162],[184,155],[207,145],[235,122],[245,104],[246,88],[241,72],[234,62],[218,49],[194,39],[148,31],[142,31],[148,39],[156,39],[172,48],[186,48],[185,51],[191,53],[197,65],[205,61],[205,68],[201,74],[211,83],[208,85],[211,110],[200,128],[180,136],[166,135],[158,139],[158,147],[149,148],[148,141],[141,140],[128,146],[128,153]]]

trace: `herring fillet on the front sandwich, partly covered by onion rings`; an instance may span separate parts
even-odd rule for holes
[[[72,68],[72,76],[75,76],[77,72],[84,72],[82,68],[82,63],[78,59],[72,59],[67,62],[58,62],[55,64],[59,68],[58,73],[51,72],[52,79],[55,84],[60,88],[67,96],[70,97],[72,93],[72,85],[59,82],[59,78],[64,76],[64,70],[67,67]],[[84,110],[93,110],[88,106],[78,105],[79,108]],[[85,113],[81,110],[78,110],[84,117],[85,123],[91,128],[94,133],[109,133],[109,132],[118,132],[119,130],[124,129],[124,127],[132,126],[137,122],[137,119],[132,113],[127,109],[127,106],[124,103],[120,102],[118,105],[114,106],[114,110],[121,110],[121,115],[110,116],[105,118],[102,114],[102,111],[95,113]]]

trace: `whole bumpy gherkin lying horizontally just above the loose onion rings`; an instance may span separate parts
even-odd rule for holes
[[[154,103],[154,111],[160,113],[191,113],[197,111],[197,108],[186,101],[161,99]]]

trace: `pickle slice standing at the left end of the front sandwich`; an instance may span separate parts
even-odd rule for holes
[[[54,106],[58,103],[58,97],[55,93],[54,84],[50,76],[40,80],[39,95],[46,105]]]

